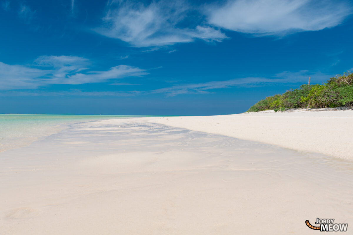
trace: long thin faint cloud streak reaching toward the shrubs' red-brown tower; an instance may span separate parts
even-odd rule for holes
[[[312,76],[312,83],[323,82],[329,78],[329,75],[321,72],[309,72],[308,70],[301,70],[299,72],[282,72],[275,74],[270,78],[264,77],[248,77],[231,79],[225,81],[210,81],[197,84],[182,84],[161,89],[155,89],[151,93],[161,93],[168,96],[178,94],[206,94],[211,93],[212,89],[229,88],[233,86],[267,86],[269,84],[278,83],[306,83],[309,76]]]

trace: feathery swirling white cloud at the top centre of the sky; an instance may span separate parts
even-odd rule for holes
[[[160,47],[192,42],[196,38],[220,42],[227,38],[213,27],[191,26],[195,20],[187,21],[187,18],[193,10],[185,1],[152,1],[148,6],[141,2],[115,1],[110,3],[103,18],[104,25],[95,31],[134,47]]]

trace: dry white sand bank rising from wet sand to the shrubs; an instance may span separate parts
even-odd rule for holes
[[[353,160],[353,111],[146,118],[150,122]]]

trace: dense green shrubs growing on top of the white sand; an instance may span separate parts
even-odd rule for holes
[[[301,85],[282,95],[266,97],[251,106],[248,112],[298,108],[353,107],[353,73],[347,72],[330,78],[323,85]]]

